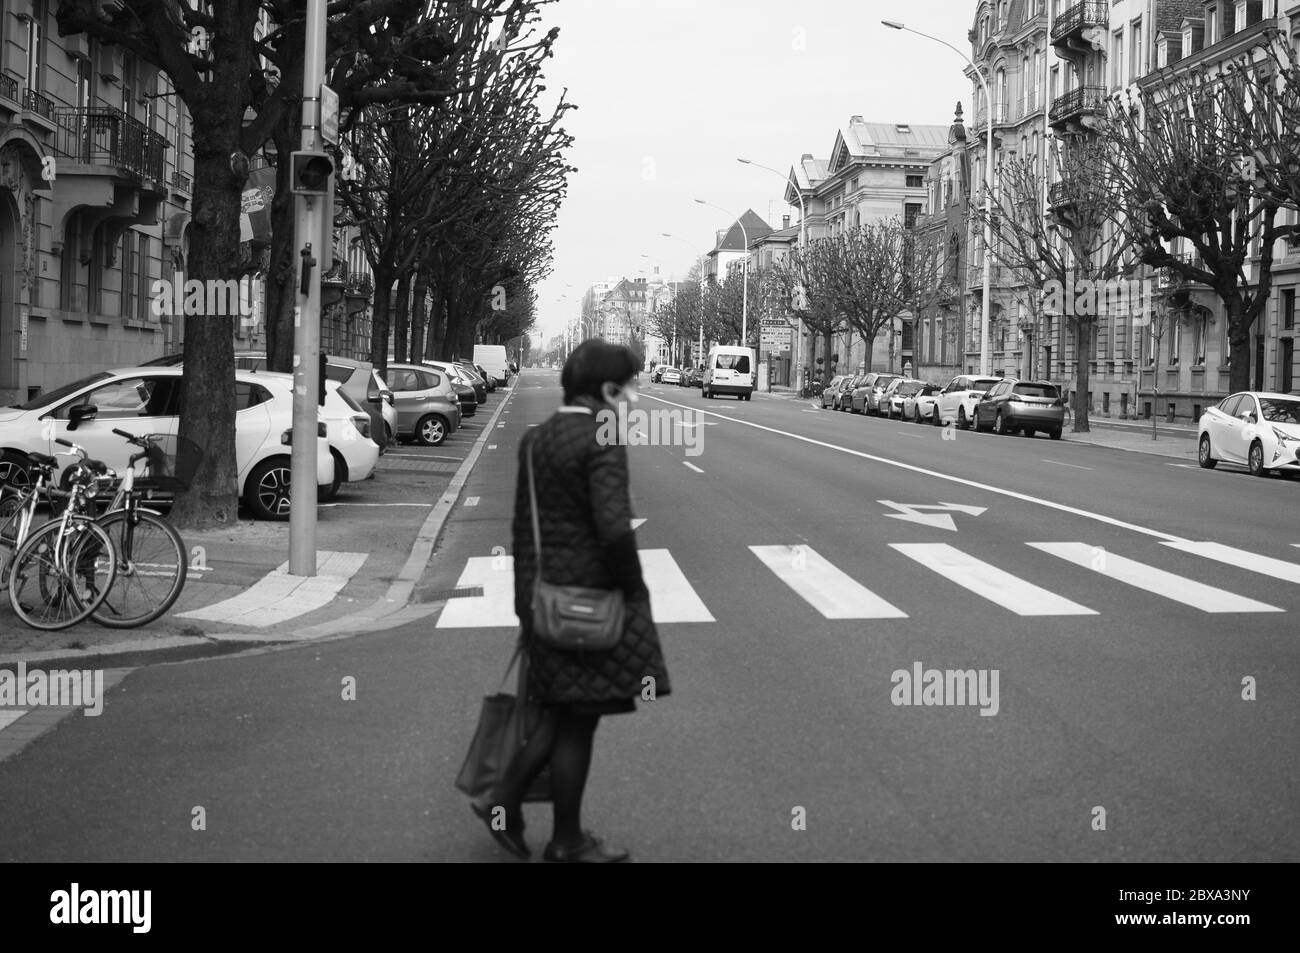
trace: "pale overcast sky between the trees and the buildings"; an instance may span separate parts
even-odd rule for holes
[[[942,38],[968,53],[974,0],[559,0],[547,88],[568,87],[577,109],[568,199],[554,231],[555,267],[538,287],[549,341],[581,308],[582,291],[654,265],[682,277],[723,212],[753,208],[779,228],[798,209],[783,173],[805,152],[829,157],[850,116],[868,122],[948,125],[957,100],[970,116],[962,59],[880,20]],[[662,238],[668,231],[680,239]],[[685,239],[681,241],[681,239]],[[647,255],[649,257],[641,257]],[[562,299],[562,296],[564,296]]]

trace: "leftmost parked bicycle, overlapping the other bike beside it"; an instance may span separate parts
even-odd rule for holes
[[[70,447],[79,458],[66,491],[48,488],[56,460],[46,454],[29,454],[39,471],[34,486],[46,486],[47,497],[66,498],[62,515],[26,536],[9,563],[9,605],[20,619],[35,629],[65,629],[88,618],[107,598],[117,573],[117,554],[103,527],[81,512],[87,499],[100,490],[108,472],[99,460],[62,438],[56,443]],[[30,528],[35,495],[20,512]]]

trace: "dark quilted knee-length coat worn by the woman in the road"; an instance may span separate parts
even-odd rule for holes
[[[582,407],[598,411],[595,400]],[[543,703],[634,699],[653,676],[655,697],[670,693],[650,594],[641,579],[632,533],[627,447],[597,443],[594,413],[556,412],[524,437],[512,525],[515,612],[529,653],[529,690]],[[542,566],[547,582],[623,589],[623,638],[608,651],[551,649],[533,637],[532,599],[537,560],[528,498],[528,452],[533,452]],[[616,710],[615,709],[610,709]]]

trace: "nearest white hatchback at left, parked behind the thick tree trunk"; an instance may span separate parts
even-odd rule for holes
[[[289,519],[292,386],[281,374],[235,372],[235,465],[239,493],[259,519]],[[139,436],[176,434],[183,372],[179,367],[136,367],[101,371],[0,410],[0,480],[30,481],[29,451],[56,455],[60,472],[74,460],[57,456],[62,438],[116,471],[127,468],[135,451],[114,428]],[[322,421],[321,429],[328,426]],[[316,482],[329,488],[334,462],[321,433],[316,449]]]

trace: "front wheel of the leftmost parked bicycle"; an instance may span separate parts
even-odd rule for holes
[[[108,533],[90,519],[47,523],[18,547],[9,567],[9,605],[34,629],[75,625],[108,595],[117,555]]]

